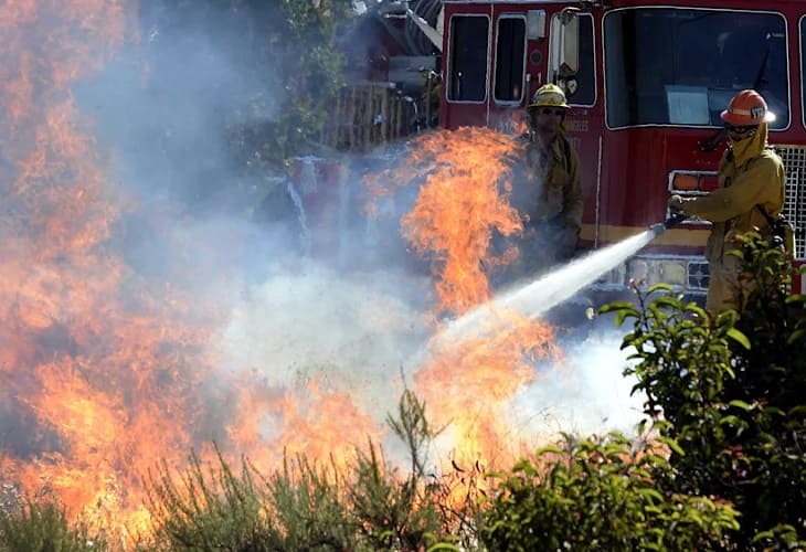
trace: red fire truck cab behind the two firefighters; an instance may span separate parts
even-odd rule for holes
[[[770,142],[786,167],[785,214],[806,262],[806,15],[803,2],[444,0],[441,124],[507,129],[544,83],[572,106],[568,138],[582,164],[581,246],[600,248],[664,221],[671,193],[717,184],[724,149],[720,112],[744,88],[776,118]],[[709,223],[686,221],[601,290],[630,279],[666,282],[692,296],[708,287]],[[794,283],[806,293],[806,279]]]

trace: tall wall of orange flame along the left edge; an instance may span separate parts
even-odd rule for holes
[[[110,246],[119,216],[70,87],[126,41],[120,2],[0,7],[0,440],[3,481],[46,490],[73,516],[144,522],[138,474],[179,466],[210,358],[190,298],[150,286]],[[9,413],[7,415],[7,413]],[[31,423],[29,425],[29,422]],[[23,425],[24,424],[24,425]],[[92,509],[92,510],[89,510]]]

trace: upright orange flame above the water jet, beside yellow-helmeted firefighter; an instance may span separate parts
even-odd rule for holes
[[[488,128],[463,127],[423,135],[403,166],[369,182],[373,197],[423,181],[416,203],[402,222],[414,250],[435,264],[438,308],[465,312],[490,297],[485,266],[512,261],[489,252],[492,232],[503,236],[523,226],[509,204],[508,161],[518,142]]]

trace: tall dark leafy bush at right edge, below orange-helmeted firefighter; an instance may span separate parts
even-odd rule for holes
[[[639,362],[635,390],[646,393],[655,428],[679,443],[664,486],[735,505],[741,550],[806,546],[806,321],[791,295],[792,264],[757,234],[742,238],[736,310],[712,317],[683,305],[668,286],[639,294],[624,348]],[[656,296],[647,304],[650,296]]]

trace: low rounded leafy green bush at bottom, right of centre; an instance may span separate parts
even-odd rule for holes
[[[480,533],[490,550],[721,550],[736,512],[662,491],[667,460],[626,437],[576,439],[538,452],[507,476]]]

